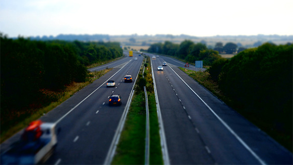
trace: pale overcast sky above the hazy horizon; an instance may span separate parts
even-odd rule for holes
[[[293,35],[293,0],[0,0],[0,32]]]

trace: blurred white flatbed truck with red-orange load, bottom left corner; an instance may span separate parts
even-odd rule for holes
[[[1,165],[44,163],[57,145],[55,123],[33,121],[25,128],[21,139],[1,155]]]

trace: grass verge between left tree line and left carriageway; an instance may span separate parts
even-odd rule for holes
[[[25,128],[31,121],[37,120],[42,115],[48,113],[62,102],[70,98],[75,92],[82,89],[86,85],[94,82],[96,79],[105,75],[112,69],[105,69],[102,71],[91,72],[88,74],[86,82],[71,83],[61,91],[51,91],[42,89],[42,92],[49,98],[54,98],[55,101],[34,109],[10,110],[8,113],[1,113],[1,135],[0,143]]]

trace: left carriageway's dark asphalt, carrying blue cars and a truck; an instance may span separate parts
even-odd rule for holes
[[[94,83],[76,92],[68,100],[42,116],[43,122],[57,123],[58,145],[45,164],[83,165],[103,164],[118,127],[134,81],[144,57],[134,60],[124,57],[118,61],[96,67],[95,70],[113,68]],[[133,83],[124,83],[124,76],[132,75]],[[114,80],[116,87],[106,87]],[[111,94],[122,96],[121,106],[109,106]],[[1,152],[20,138],[22,131],[1,144]]]

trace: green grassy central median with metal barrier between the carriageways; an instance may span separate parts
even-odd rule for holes
[[[121,133],[116,155],[112,161],[113,165],[142,165],[145,163],[146,101],[145,92],[143,89],[144,85],[147,88],[149,104],[149,164],[163,164],[149,57],[147,57],[145,66],[149,69],[145,70],[145,78],[143,78],[142,75],[142,68],[140,70],[139,77],[135,85],[135,94],[133,96],[127,119]]]

